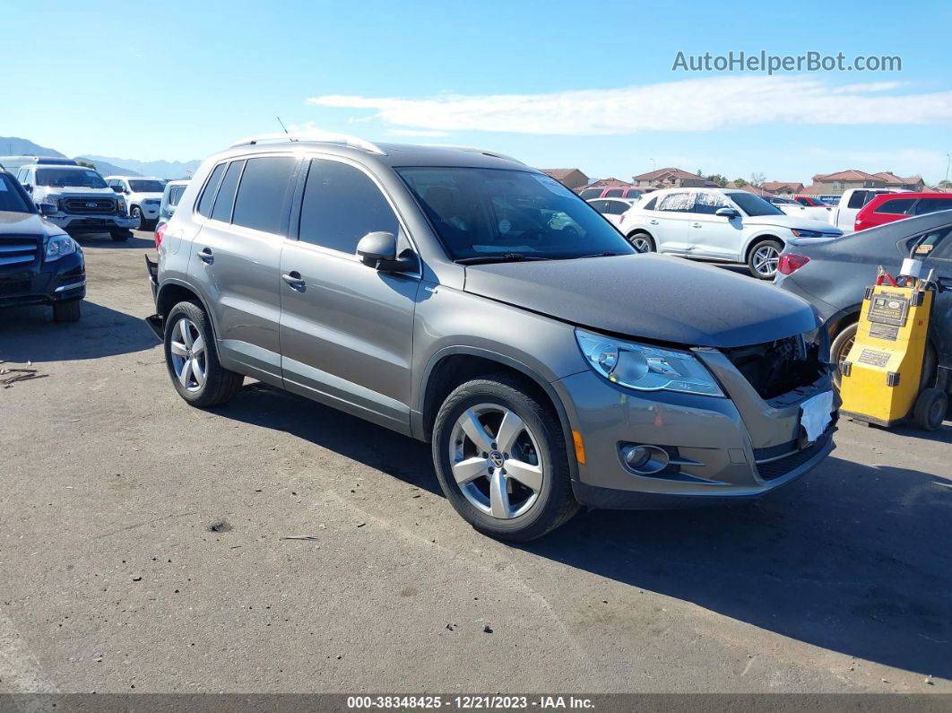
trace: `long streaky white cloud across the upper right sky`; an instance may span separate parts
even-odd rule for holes
[[[307,104],[369,109],[404,129],[617,135],[767,123],[934,124],[952,121],[952,91],[889,93],[897,82],[837,87],[813,77],[708,77],[547,94],[448,94],[428,99],[315,96]]]

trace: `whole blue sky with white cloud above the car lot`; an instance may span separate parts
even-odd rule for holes
[[[0,4],[0,136],[188,160],[288,125],[480,146],[592,177],[942,179],[952,3]],[[914,16],[912,16],[914,15]],[[34,34],[34,29],[38,34]],[[15,31],[14,31],[15,33]],[[899,55],[902,71],[672,71],[685,54]],[[652,164],[654,159],[654,164]]]

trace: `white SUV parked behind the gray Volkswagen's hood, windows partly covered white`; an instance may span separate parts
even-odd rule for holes
[[[639,252],[745,263],[772,280],[790,238],[834,238],[843,230],[786,215],[758,195],[728,188],[665,188],[625,215],[625,237]]]

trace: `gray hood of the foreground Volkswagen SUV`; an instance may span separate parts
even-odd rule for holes
[[[744,347],[817,327],[813,308],[783,289],[651,253],[470,266],[464,289],[580,327],[687,347]]]

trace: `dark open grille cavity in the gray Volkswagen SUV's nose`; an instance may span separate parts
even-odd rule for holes
[[[723,351],[764,400],[813,384],[824,369],[819,345],[807,342],[801,334]]]

